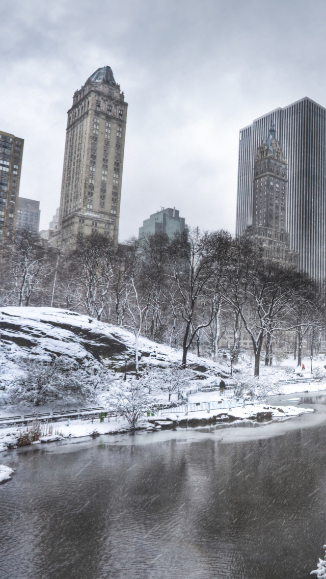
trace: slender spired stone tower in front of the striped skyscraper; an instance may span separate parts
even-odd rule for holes
[[[291,251],[286,229],[287,172],[288,162],[272,123],[255,156],[251,225],[241,235],[260,245],[265,259],[297,266],[298,254]]]

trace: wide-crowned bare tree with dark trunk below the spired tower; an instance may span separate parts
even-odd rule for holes
[[[222,281],[222,284],[221,284]],[[255,376],[263,339],[296,327],[287,314],[305,299],[307,277],[291,267],[262,259],[261,250],[247,240],[234,240],[225,259],[225,276],[218,280],[223,299],[239,314],[250,335]],[[223,290],[222,287],[223,286]]]

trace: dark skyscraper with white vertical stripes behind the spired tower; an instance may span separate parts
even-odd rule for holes
[[[254,160],[274,122],[288,161],[285,227],[299,267],[318,281],[326,278],[326,109],[310,98],[277,108],[240,130],[236,233],[252,225]]]

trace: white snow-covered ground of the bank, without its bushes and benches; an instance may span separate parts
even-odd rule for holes
[[[140,338],[139,342],[140,370],[152,372],[153,376],[162,376],[173,367],[180,367],[182,351],[169,346]],[[41,364],[55,360],[71,360],[81,373],[75,373],[78,380],[86,380],[90,386],[78,395],[74,391],[66,391],[67,381],[61,384],[61,391],[56,391],[56,382],[50,384],[45,395],[35,408],[35,400],[28,397],[30,385],[19,386],[24,379],[28,364]],[[230,364],[224,358],[217,361],[188,354],[188,378],[182,384],[182,396],[188,404],[192,402],[210,402],[230,400],[235,397],[246,398],[246,405],[225,411],[226,415],[243,420],[254,417],[257,413],[271,413],[273,418],[298,416],[312,409],[289,406],[288,400],[280,401],[279,405],[270,406],[264,403],[270,395],[288,396],[302,391],[326,389],[326,382],[316,380],[326,379],[324,357],[313,360],[313,372],[310,372],[310,358],[303,359],[305,372],[294,367],[290,358],[273,367],[261,365],[259,378],[254,378],[254,361],[248,354],[240,355],[237,364],[233,365],[233,375],[230,375]],[[110,391],[116,384],[122,383],[124,370],[127,369],[129,379],[135,369],[135,338],[132,332],[93,320],[68,310],[50,307],[3,307],[0,309],[0,417],[9,415],[25,415],[27,413],[53,412],[103,406],[109,408]],[[294,372],[295,371],[295,372]],[[68,376],[74,372],[66,373]],[[32,376],[32,380],[37,377]],[[219,381],[224,379],[227,388],[224,393],[218,389]],[[302,380],[305,382],[302,382]],[[291,380],[282,383],[280,380]],[[31,380],[30,380],[31,381]],[[153,392],[160,405],[168,405],[169,394],[162,388],[162,380],[153,383]],[[18,385],[18,386],[17,386]],[[32,385],[33,386],[33,385]],[[201,391],[203,387],[215,387],[211,392]],[[195,393],[189,394],[189,390]],[[196,391],[197,390],[197,391]],[[23,394],[21,392],[23,391]],[[249,399],[254,397],[254,405]],[[177,395],[171,396],[171,402],[177,402]],[[210,417],[217,414],[211,411]],[[219,412],[220,413],[220,412]],[[174,416],[171,413],[171,416]],[[166,415],[164,415],[164,418]],[[207,412],[191,412],[188,419],[206,419]],[[179,416],[179,420],[184,417]],[[56,436],[79,437],[89,436],[94,430],[100,434],[124,431],[127,423],[124,419],[118,422],[100,423],[87,420],[71,420],[67,423],[59,421],[52,423]],[[5,442],[19,436],[25,427],[0,428],[0,446],[7,448]],[[96,433],[94,433],[95,435]],[[43,436],[44,438],[44,436]],[[49,438],[48,438],[49,439]],[[45,438],[44,438],[45,440]]]

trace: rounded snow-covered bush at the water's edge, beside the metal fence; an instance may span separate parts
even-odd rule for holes
[[[134,430],[144,412],[153,409],[156,398],[150,393],[146,378],[133,378],[130,382],[121,381],[119,386],[111,389],[109,398],[112,410],[127,419],[130,428]]]

